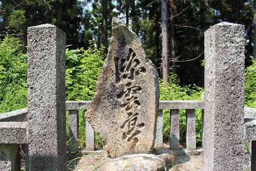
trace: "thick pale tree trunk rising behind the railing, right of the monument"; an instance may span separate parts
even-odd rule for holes
[[[162,11],[162,68],[163,81],[168,82],[169,76],[169,53],[168,53],[168,22],[167,22],[167,0],[161,0]]]

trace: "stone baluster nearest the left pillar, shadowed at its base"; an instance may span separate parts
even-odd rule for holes
[[[70,151],[77,151],[79,138],[79,118],[78,110],[69,110],[69,139]]]

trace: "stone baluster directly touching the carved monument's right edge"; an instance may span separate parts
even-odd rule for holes
[[[158,111],[155,148],[163,147],[163,110]]]

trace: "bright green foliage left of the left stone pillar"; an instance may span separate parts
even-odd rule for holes
[[[0,113],[25,108],[27,104],[27,55],[19,38],[0,40]]]

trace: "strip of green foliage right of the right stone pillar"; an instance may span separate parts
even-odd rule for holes
[[[256,108],[256,60],[245,70],[245,105]]]

